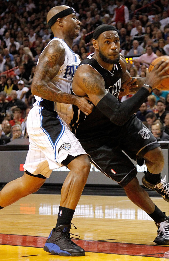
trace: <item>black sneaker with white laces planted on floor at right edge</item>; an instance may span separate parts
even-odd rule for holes
[[[154,239],[157,245],[169,245],[169,216],[164,218],[160,223],[156,223],[158,227],[158,236]]]

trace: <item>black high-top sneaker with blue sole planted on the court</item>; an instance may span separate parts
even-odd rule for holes
[[[44,250],[52,255],[85,256],[85,250],[71,241],[70,227],[70,224],[64,224],[58,226],[56,230],[53,228],[46,240]]]

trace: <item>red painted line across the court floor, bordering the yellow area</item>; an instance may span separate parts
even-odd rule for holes
[[[41,236],[0,234],[0,245],[43,248],[46,239],[46,237]],[[78,239],[74,241],[76,244],[84,248],[86,252],[169,258],[168,246],[127,244]]]

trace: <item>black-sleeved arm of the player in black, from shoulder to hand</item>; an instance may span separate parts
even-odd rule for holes
[[[169,69],[168,62],[159,62],[154,69],[146,74],[146,84],[131,98],[119,103],[118,100],[105,90],[102,76],[89,65],[83,64],[77,68],[72,88],[77,95],[87,94],[93,104],[113,123],[123,125],[130,116],[136,112],[146,100],[151,90],[156,88],[163,79],[169,78],[164,75]]]

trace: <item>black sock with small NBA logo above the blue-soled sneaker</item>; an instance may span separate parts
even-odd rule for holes
[[[59,206],[59,213],[55,229],[60,225],[70,224],[74,213],[74,209],[68,209],[67,207]]]

